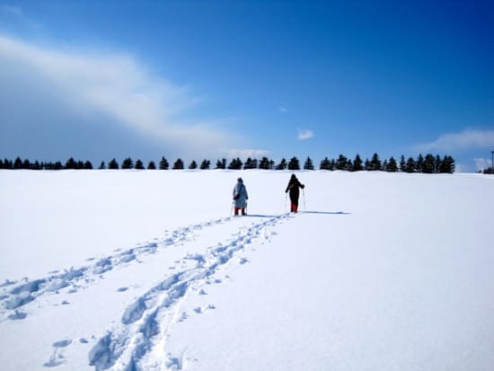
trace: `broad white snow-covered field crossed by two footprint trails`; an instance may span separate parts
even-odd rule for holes
[[[494,177],[296,173],[0,171],[2,369],[491,370]]]

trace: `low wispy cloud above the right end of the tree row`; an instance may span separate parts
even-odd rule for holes
[[[493,148],[494,130],[465,129],[458,133],[446,133],[435,141],[417,146],[420,151],[451,151],[454,149]]]

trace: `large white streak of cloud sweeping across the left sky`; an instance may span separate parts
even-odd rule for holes
[[[80,114],[100,112],[121,128],[163,145],[214,152],[231,140],[213,123],[190,122],[185,116],[198,99],[186,88],[151,75],[129,55],[45,49],[0,35],[0,68],[5,74],[14,71],[19,83],[29,80],[17,86],[37,79],[46,92],[57,93],[62,106]],[[2,95],[8,96],[9,89],[0,84]],[[42,94],[38,99],[44,99]]]

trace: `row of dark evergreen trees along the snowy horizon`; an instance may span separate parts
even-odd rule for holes
[[[409,157],[405,160],[405,156],[401,155],[401,159],[398,162],[394,157],[389,160],[381,161],[379,155],[374,154],[372,158],[362,160],[360,155],[356,155],[354,160],[348,159],[345,155],[340,155],[337,159],[324,159],[319,164],[320,170],[345,170],[348,172],[359,171],[384,171],[384,172],[424,172],[424,173],[439,173],[439,172],[454,172],[454,159],[449,155],[445,155],[442,158],[439,155],[419,155],[417,159]],[[166,158],[162,157],[161,161],[156,165],[154,161],[147,163],[145,167],[141,160],[134,162],[130,157],[124,159],[121,165],[116,159],[112,159],[108,164],[104,161],[100,163],[98,169],[170,169],[170,163]],[[178,158],[172,163],[172,170],[185,169],[185,163]],[[190,162],[187,169],[201,169],[208,170],[211,168],[211,162],[209,160],[203,160],[198,164],[195,160]],[[31,163],[29,160],[21,160],[17,157],[14,161],[5,159],[0,160],[0,169],[31,169],[31,170],[62,170],[62,169],[93,169],[93,164],[89,161],[75,161],[74,158],[69,158],[65,164],[57,161],[56,163],[40,163],[35,161]],[[245,163],[240,158],[234,158],[227,163],[226,159],[216,161],[215,169],[232,169],[232,170],[247,170],[247,169],[265,169],[265,170],[314,170],[315,166],[313,160],[307,157],[303,166],[298,158],[292,157],[289,161],[282,158],[279,163],[275,163],[268,157],[262,157],[260,161],[249,157]]]

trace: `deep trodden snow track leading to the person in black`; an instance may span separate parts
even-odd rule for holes
[[[188,254],[184,260],[195,261],[189,269],[182,269],[165,278],[155,287],[128,305],[119,326],[101,338],[90,352],[90,364],[96,370],[181,370],[188,362],[184,354],[167,354],[166,341],[173,323],[184,321],[188,314],[181,312],[181,301],[191,292],[206,295],[204,285],[221,283],[213,276],[218,270],[254,241],[269,240],[269,227],[287,218],[269,216],[267,220],[241,227],[227,242],[216,243],[203,253]],[[266,219],[266,218],[264,218]],[[246,261],[239,258],[238,263]],[[214,310],[209,304],[194,309],[196,314]]]

